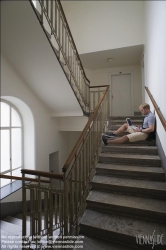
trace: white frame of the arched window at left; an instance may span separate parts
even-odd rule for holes
[[[10,169],[8,169],[6,171],[3,171],[3,172],[0,171],[0,173],[2,175],[8,174],[8,175],[12,176],[12,172],[13,171],[15,171],[17,169],[21,170],[21,168],[23,168],[23,162],[24,162],[24,158],[23,158],[24,157],[24,147],[23,147],[23,145],[24,145],[23,144],[24,143],[24,140],[23,140],[23,130],[24,130],[24,128],[23,128],[23,119],[22,119],[22,116],[21,116],[19,110],[11,102],[6,101],[4,99],[0,99],[0,102],[6,103],[7,105],[9,105],[9,112],[10,112],[9,113],[9,118],[10,118],[9,127],[1,127],[0,126],[0,130],[9,130],[9,136],[10,136],[10,139],[9,139],[10,140],[9,141],[9,143],[10,143]],[[21,122],[20,126],[12,126],[12,108],[16,111],[16,113],[18,114],[18,116],[20,118],[20,122]],[[12,129],[13,128],[20,128],[21,129],[21,164],[20,164],[19,167],[16,167],[16,168],[12,168]],[[9,184],[13,183],[14,181],[16,181],[16,180],[10,179],[10,182],[8,184],[6,184],[6,185],[9,185]],[[1,186],[1,188],[5,187],[6,185]]]

